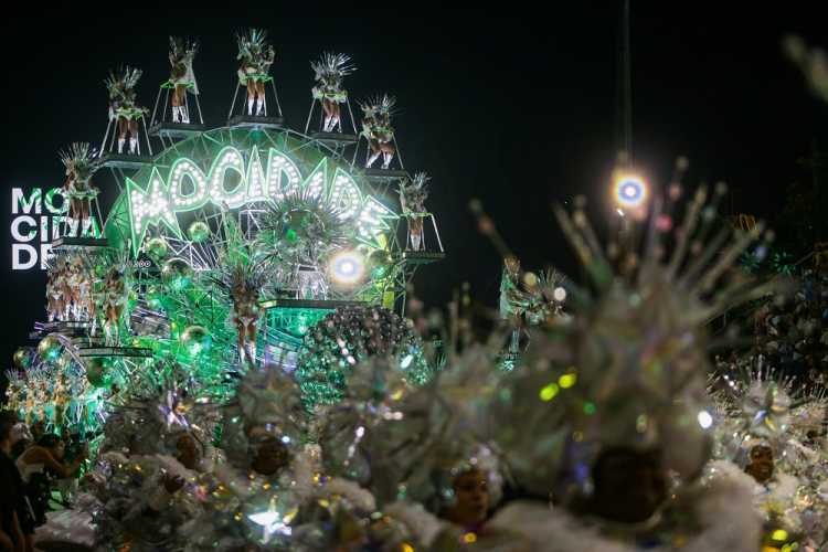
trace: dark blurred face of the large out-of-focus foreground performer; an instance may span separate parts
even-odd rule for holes
[[[635,523],[656,513],[667,498],[660,449],[611,448],[593,467],[592,513],[611,521]]]

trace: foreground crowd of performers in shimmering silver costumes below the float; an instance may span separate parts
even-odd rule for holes
[[[703,199],[688,210],[705,213]],[[705,245],[694,237],[705,217],[690,216],[675,234],[652,224],[651,246],[618,258],[596,248],[583,212],[559,215],[584,282],[528,282],[507,264],[508,291],[519,291],[508,300],[546,301],[535,315],[544,323],[510,371],[496,360],[508,337],[449,350],[420,385],[400,358],[371,357],[343,365],[339,403],[318,405],[277,362],[234,367],[226,393],[161,359],[109,401],[100,445],[70,466],[59,461],[56,436],[21,447],[20,413],[4,415],[0,444],[18,450],[19,480],[3,485],[21,489],[10,542],[825,550],[828,397],[767,365],[716,370],[710,358],[711,314],[767,289],[735,270],[744,279],[720,293],[729,263],[699,270],[698,261],[733,259],[753,236]],[[676,253],[662,258],[668,237]],[[47,487],[49,468],[64,475],[81,465],[87,473],[71,508],[45,511],[26,480]]]

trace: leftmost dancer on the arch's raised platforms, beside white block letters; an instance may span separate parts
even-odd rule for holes
[[[66,167],[66,182],[61,193],[68,199],[72,220],[68,221],[71,237],[85,235],[92,225],[91,203],[100,190],[92,185],[92,176],[99,167],[95,163],[97,151],[89,150],[88,142],[73,142],[70,151],[61,151],[61,159]]]

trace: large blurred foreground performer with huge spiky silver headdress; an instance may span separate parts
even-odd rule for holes
[[[516,533],[522,550],[760,549],[752,492],[728,478],[700,481],[713,444],[704,321],[763,293],[746,277],[718,289],[755,235],[696,241],[710,224],[705,198],[696,194],[675,236],[664,223],[671,209],[656,199],[660,223],[649,224],[645,253],[626,259],[601,250],[581,206],[572,216],[556,208],[586,282],[567,286],[572,321],[535,336],[493,405],[491,438],[538,499],[508,503],[487,527]]]

